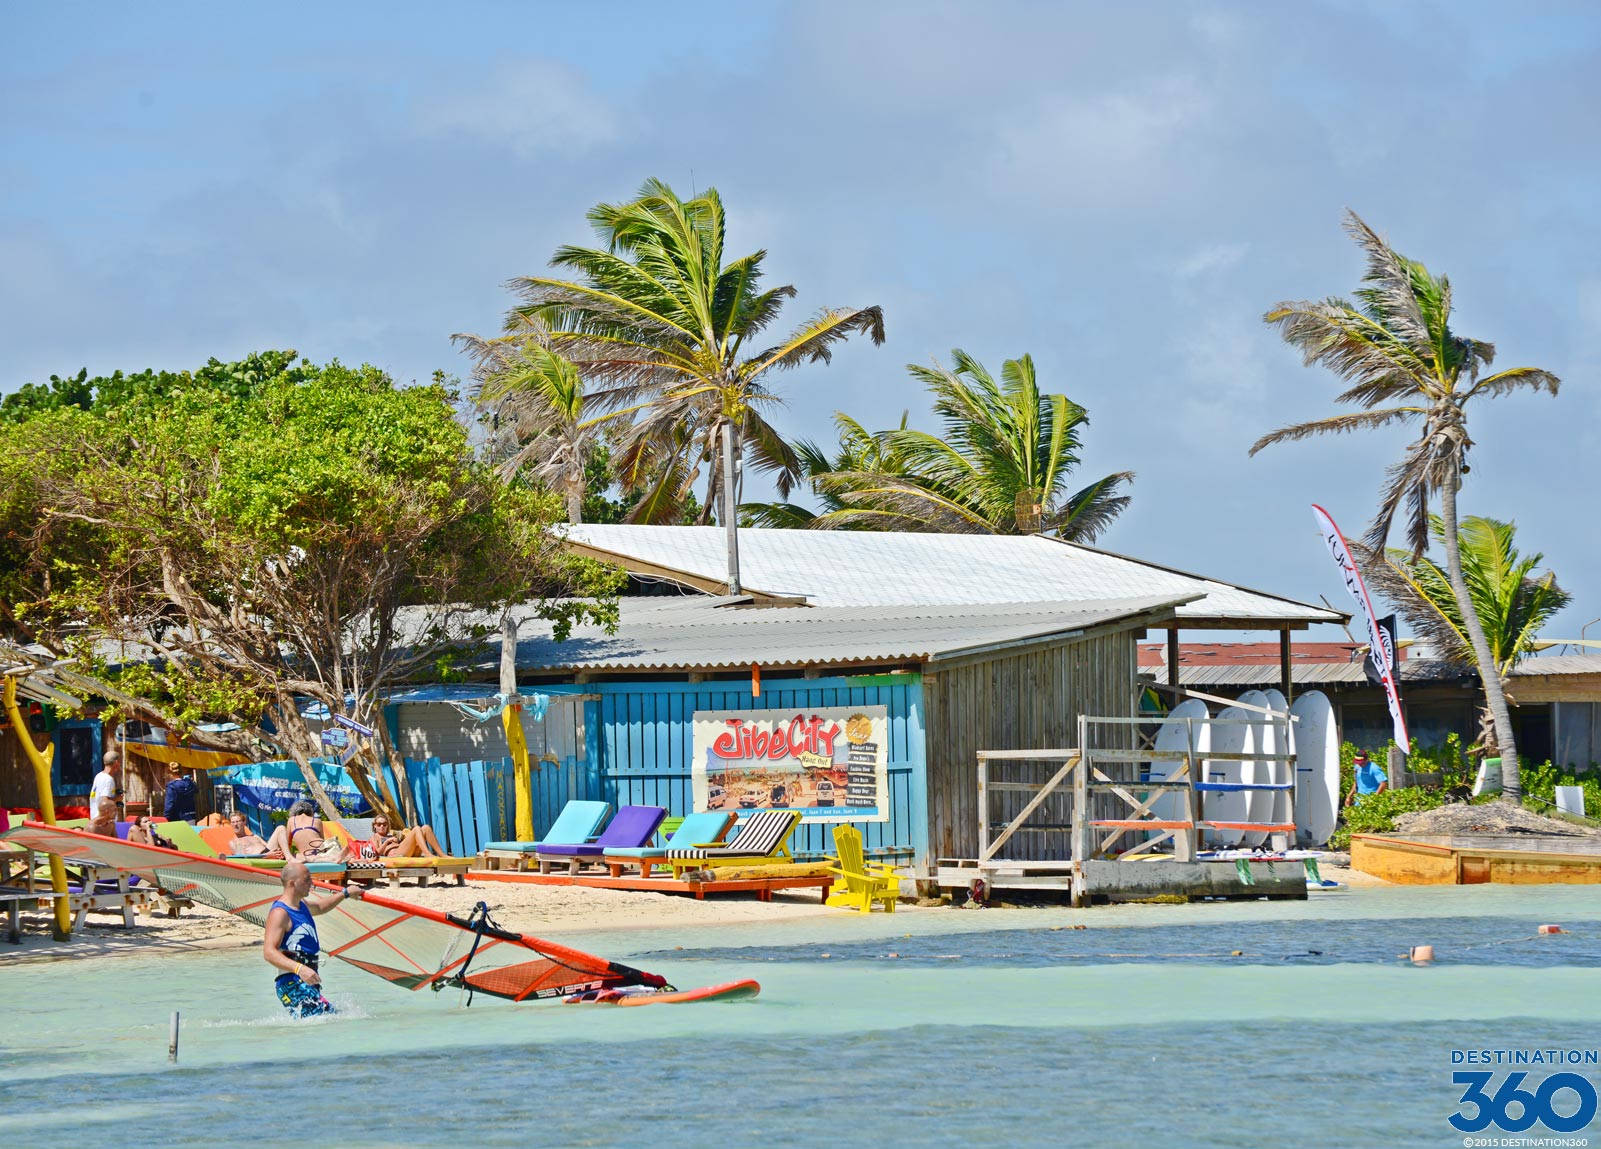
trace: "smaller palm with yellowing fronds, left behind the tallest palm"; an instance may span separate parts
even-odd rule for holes
[[[592,414],[578,368],[532,338],[480,339],[453,336],[477,360],[477,398],[511,422],[517,446],[500,462],[503,477],[528,469],[560,491],[567,522],[583,522],[584,470],[600,448],[604,424],[613,414]],[[591,414],[592,418],[584,418]]]

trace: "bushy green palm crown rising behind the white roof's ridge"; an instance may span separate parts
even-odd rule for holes
[[[1092,541],[1129,506],[1122,488],[1132,470],[1117,470],[1068,491],[1079,464],[1082,406],[1066,395],[1041,394],[1029,355],[1001,365],[1001,381],[962,349],[953,366],[906,370],[933,394],[943,435],[885,434],[893,470],[837,470],[817,483],[841,504],[817,526],[969,534],[1029,534]]]

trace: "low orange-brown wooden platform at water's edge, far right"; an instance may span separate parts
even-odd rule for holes
[[[1596,885],[1601,839],[1356,834],[1351,869],[1399,885]]]

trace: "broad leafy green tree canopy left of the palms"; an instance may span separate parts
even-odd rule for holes
[[[559,632],[615,618],[615,574],[560,549],[557,499],[474,456],[439,382],[293,352],[110,376],[130,378],[40,387],[0,440],[0,474],[30,480],[0,504],[0,624],[98,666],[146,717],[232,720],[207,739],[304,767],[307,699],[381,728],[387,687],[509,603],[540,600]]]

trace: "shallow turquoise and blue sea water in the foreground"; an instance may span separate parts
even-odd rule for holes
[[[560,938],[680,987],[754,976],[762,994],[467,1007],[333,963],[343,1013],[290,1021],[253,949],[0,949],[0,1141],[1460,1146],[1452,1050],[1601,1047],[1595,887]],[[1417,944],[1433,965],[1401,957]],[[1569,1136],[1601,1146],[1601,1120]]]

